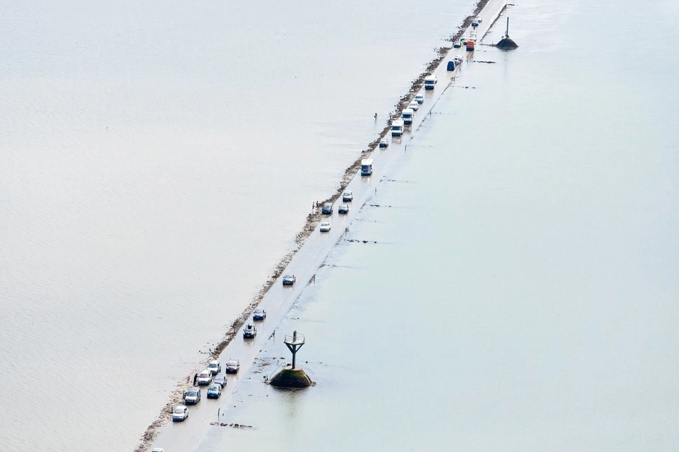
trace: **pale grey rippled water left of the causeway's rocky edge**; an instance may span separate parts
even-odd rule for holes
[[[133,449],[470,10],[0,3],[3,449]]]

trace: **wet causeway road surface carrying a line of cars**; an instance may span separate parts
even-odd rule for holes
[[[483,21],[475,29],[479,40],[492,26],[504,6],[504,0],[490,0],[486,3],[484,9],[479,13],[479,16],[483,17]],[[472,31],[471,27],[466,29],[464,31],[465,36],[469,36],[470,31]],[[332,215],[321,216],[321,221],[330,221],[330,231],[320,232],[318,227],[316,227],[282,272],[282,274],[294,274],[297,278],[295,284],[283,286],[281,276],[269,288],[258,305],[267,311],[267,318],[255,323],[258,328],[255,338],[243,339],[241,330],[234,332],[232,341],[225,347],[218,360],[224,367],[229,358],[239,358],[241,368],[237,374],[228,375],[228,383],[223,388],[221,397],[216,400],[208,399],[207,386],[202,386],[202,401],[189,407],[189,416],[186,421],[178,423],[167,421],[160,428],[160,432],[158,432],[155,439],[147,437],[148,443],[153,442],[151,447],[162,447],[166,452],[194,450],[195,445],[200,444],[207,430],[213,428],[210,423],[218,421],[218,413],[221,414],[230,407],[230,397],[235,386],[237,386],[239,379],[249,378],[248,371],[251,369],[255,358],[265,346],[269,337],[272,334],[282,335],[290,333],[276,331],[276,328],[280,325],[281,320],[285,318],[288,311],[290,311],[295,300],[300,297],[304,288],[313,281],[314,274],[325,262],[335,244],[341,241],[344,234],[349,231],[351,223],[358,215],[360,209],[366,204],[375,202],[375,197],[379,192],[380,181],[384,178],[388,168],[395,162],[395,157],[407,150],[410,134],[416,132],[419,125],[430,115],[431,108],[433,108],[437,99],[446,91],[447,87],[463,76],[463,69],[447,71],[446,68],[447,62],[457,55],[461,55],[466,60],[472,55],[472,52],[465,51],[465,48],[451,48],[442,60],[442,64],[433,71],[433,75],[437,76],[438,80],[435,89],[427,91],[422,89],[421,92],[414,93],[424,94],[425,101],[415,113],[412,126],[406,129],[406,133],[399,138],[394,137],[392,139],[391,134],[388,133],[388,136],[385,138],[391,141],[390,146],[388,148],[376,148],[372,155],[370,155],[370,158],[373,160],[372,175],[360,176],[359,170],[358,174],[349,182],[346,190],[353,192],[353,201],[346,203],[350,206],[349,213],[346,215],[339,215],[337,213],[337,206],[343,204],[340,197],[334,203]],[[250,321],[251,318],[248,322]],[[164,413],[161,418],[171,419],[171,415]],[[151,447],[149,447],[149,444],[141,444],[138,450],[144,451],[151,449]]]

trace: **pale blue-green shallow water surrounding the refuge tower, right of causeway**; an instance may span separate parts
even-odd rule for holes
[[[476,50],[389,148],[373,201],[219,404],[252,428],[195,450],[675,450],[679,59],[607,45],[631,23],[675,41],[654,20],[676,8],[643,9],[510,8],[519,50]],[[601,45],[567,38],[585,35]],[[316,386],[279,391],[262,377],[293,330]]]

